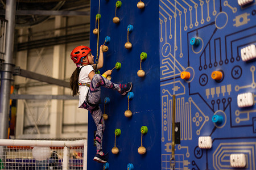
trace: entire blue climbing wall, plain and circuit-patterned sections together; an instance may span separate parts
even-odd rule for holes
[[[114,70],[113,82],[133,82],[134,99],[130,100],[131,118],[124,116],[127,96],[103,90],[104,98],[110,97],[105,112],[104,150],[109,151],[110,169],[126,169],[133,163],[135,169],[171,169],[172,155],[172,96],[175,100],[177,123],[175,169],[239,169],[230,164],[230,155],[244,154],[246,166],[256,169],[256,109],[255,109],[255,59],[242,61],[241,49],[256,45],[255,0],[247,6],[237,1],[224,0],[160,0],[143,1],[146,7],[137,8],[138,1],[122,2],[117,9],[121,19],[114,24],[116,1],[101,1],[100,44],[110,36],[109,51],[105,53],[104,68]],[[175,7],[176,6],[176,7]],[[98,2],[92,2],[90,46],[96,52],[97,36],[93,24],[98,13]],[[133,48],[124,48],[127,42],[127,25],[133,25],[129,42]],[[176,37],[176,42],[175,42]],[[192,38],[200,41],[191,45]],[[176,46],[175,46],[176,44]],[[142,61],[144,78],[137,76],[141,52],[148,55]],[[94,53],[96,56],[96,53]],[[190,78],[181,79],[183,71]],[[220,71],[222,78],[214,80],[213,71]],[[251,92],[253,105],[240,108],[237,96]],[[220,124],[213,117],[223,118]],[[141,126],[148,127],[143,135],[147,152],[139,155]],[[113,155],[114,130],[121,129],[117,137],[120,152]],[[89,117],[88,169],[101,169],[92,161],[96,148],[93,131],[96,129]],[[212,138],[212,147],[199,147],[199,137]]]

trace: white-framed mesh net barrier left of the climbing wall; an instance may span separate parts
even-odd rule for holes
[[[86,169],[86,141],[47,141],[34,146],[7,146],[0,140],[0,169]],[[12,140],[15,141],[15,140]],[[18,140],[19,141],[19,140]],[[24,140],[22,140],[24,141]],[[25,141],[26,142],[26,141]],[[73,143],[72,143],[73,142]],[[72,146],[72,144],[74,144]],[[79,146],[81,145],[81,146]]]

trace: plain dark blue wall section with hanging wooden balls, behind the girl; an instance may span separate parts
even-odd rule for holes
[[[103,74],[106,70],[115,67],[116,62],[121,63],[121,69],[113,70],[112,81],[115,83],[133,82],[134,98],[129,100],[129,109],[133,116],[125,117],[128,108],[127,96],[118,92],[101,88],[100,107],[104,112],[104,99],[110,98],[110,103],[105,105],[108,120],[105,121],[104,152],[109,152],[109,169],[126,169],[132,163],[135,169],[160,169],[161,167],[161,121],[160,121],[160,68],[159,68],[159,3],[158,1],[145,1],[145,8],[139,9],[139,1],[122,1],[122,6],[117,8],[118,24],[113,23],[115,16],[115,3],[117,1],[100,1],[100,37],[99,44],[104,44],[105,37],[110,37],[109,47],[104,53],[104,67],[100,69]],[[96,15],[98,14],[98,1],[91,1],[90,18],[90,48],[96,58],[97,35],[93,34]],[[129,32],[131,49],[125,48],[127,42],[127,26],[133,25]],[[142,70],[146,75],[137,76],[140,69],[142,52],[147,53],[147,58],[142,61]],[[96,126],[89,115],[88,122],[88,169],[103,169],[102,164],[93,161],[96,146],[93,146],[93,137]],[[143,146],[146,154],[138,154],[141,146],[141,127],[147,126],[148,133],[143,135]],[[112,154],[114,147],[115,129],[121,130],[121,135],[116,139],[117,155]]]

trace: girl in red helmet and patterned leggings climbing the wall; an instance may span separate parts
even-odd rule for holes
[[[79,108],[87,109],[92,114],[93,120],[97,126],[96,131],[96,146],[97,153],[93,160],[100,163],[106,163],[108,154],[102,151],[102,137],[105,130],[105,122],[102,116],[100,107],[101,86],[105,88],[112,88],[118,91],[121,95],[126,95],[131,91],[132,84],[115,84],[106,79],[108,75],[112,74],[112,70],[106,71],[104,74],[95,74],[96,66],[98,69],[103,67],[104,58],[100,46],[100,56],[98,64],[94,64],[91,49],[87,46],[77,46],[71,52],[71,59],[76,64],[77,68],[71,75],[69,83],[73,96],[79,94]]]

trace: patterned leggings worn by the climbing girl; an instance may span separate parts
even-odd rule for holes
[[[110,80],[104,78],[100,74],[95,74],[90,83],[90,90],[86,100],[82,106],[87,109],[97,126],[96,131],[96,147],[97,152],[102,152],[102,138],[105,130],[105,122],[102,116],[101,108],[98,106],[100,104],[101,97],[101,86],[105,88],[112,88],[113,90],[120,90],[119,84],[112,83]]]

